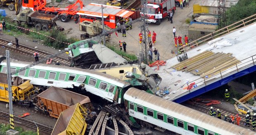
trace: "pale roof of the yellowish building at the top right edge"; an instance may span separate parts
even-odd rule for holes
[[[225,0],[225,7],[236,5],[239,0]],[[201,0],[200,6],[218,7],[218,0]]]

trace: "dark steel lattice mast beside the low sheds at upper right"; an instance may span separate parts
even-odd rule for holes
[[[227,26],[225,0],[218,0],[218,26],[219,29]]]

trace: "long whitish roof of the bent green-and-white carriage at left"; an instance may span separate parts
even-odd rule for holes
[[[12,61],[11,66],[13,67],[25,67],[27,65],[30,65],[32,63],[30,62],[24,62],[24,61]],[[2,61],[0,65],[6,65],[6,61]],[[128,82],[123,81],[121,79],[118,79],[116,77],[112,77],[111,75],[104,74],[102,72],[96,72],[92,70],[86,70],[76,67],[66,67],[66,66],[60,66],[60,65],[48,65],[48,64],[38,64],[31,69],[37,69],[37,70],[50,70],[54,72],[67,72],[71,74],[81,74],[81,75],[88,75],[90,77],[93,77],[95,79],[100,79],[102,81],[105,81],[110,84],[114,84],[119,87],[125,87],[130,85]]]

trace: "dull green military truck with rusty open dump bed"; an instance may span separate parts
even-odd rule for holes
[[[24,23],[35,26],[36,30],[48,31],[53,26],[57,26],[55,23],[57,20],[58,15],[39,13],[38,11],[26,8],[13,19],[13,22],[18,25]]]

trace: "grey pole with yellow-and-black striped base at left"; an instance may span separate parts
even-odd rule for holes
[[[12,135],[16,135],[18,131],[14,130],[14,118],[13,118],[13,110],[12,110],[12,76],[11,76],[11,65],[10,65],[10,51],[6,50],[6,61],[7,61],[7,84],[8,84],[8,95],[9,95],[9,114],[10,114],[10,126],[11,129],[6,131],[8,133],[12,133]],[[19,133],[19,132],[18,132]]]

